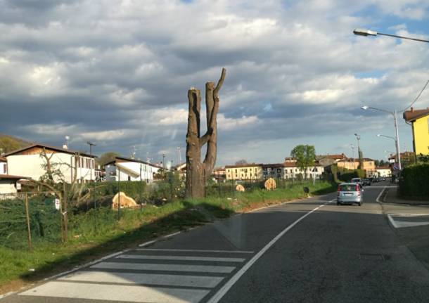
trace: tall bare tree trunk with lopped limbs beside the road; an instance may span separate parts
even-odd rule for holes
[[[205,110],[207,131],[200,136],[201,93],[199,89],[188,90],[189,112],[188,133],[186,134],[186,197],[202,198],[205,194],[205,182],[212,174],[216,163],[217,112],[219,111],[219,90],[224,83],[226,70],[214,86],[205,84]],[[201,148],[207,143],[204,161],[201,162]]]

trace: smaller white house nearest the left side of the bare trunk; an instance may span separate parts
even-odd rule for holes
[[[106,181],[146,181],[153,182],[154,174],[162,167],[129,157],[115,157],[104,165]]]

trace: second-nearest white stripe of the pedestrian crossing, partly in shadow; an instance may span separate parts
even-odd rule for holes
[[[155,273],[112,273],[105,271],[77,271],[60,278],[63,281],[98,283],[149,284],[214,288],[224,277],[160,275]]]

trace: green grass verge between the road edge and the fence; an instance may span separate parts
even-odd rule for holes
[[[34,281],[53,273],[87,262],[115,250],[132,247],[158,236],[190,226],[205,224],[213,219],[226,218],[235,212],[307,197],[303,187],[312,195],[335,191],[328,182],[295,183],[276,191],[255,189],[245,193],[231,193],[230,197],[207,197],[196,200],[169,202],[161,207],[146,205],[140,209],[91,209],[69,219],[67,243],[34,242],[34,250],[0,247],[0,293],[19,284]],[[11,283],[13,281],[13,283]]]

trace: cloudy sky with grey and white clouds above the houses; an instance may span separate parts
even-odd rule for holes
[[[0,133],[97,154],[184,160],[187,90],[227,75],[218,165],[297,144],[395,150],[392,119],[429,79],[427,0],[0,0]],[[429,89],[415,104],[429,106]],[[399,114],[401,148],[411,128]],[[205,127],[205,126],[203,126]]]

